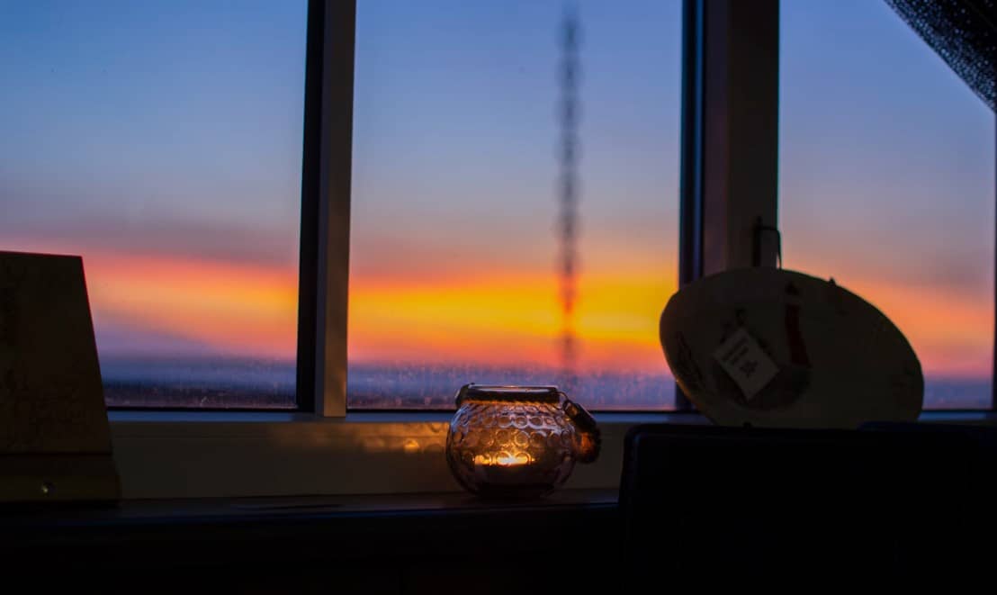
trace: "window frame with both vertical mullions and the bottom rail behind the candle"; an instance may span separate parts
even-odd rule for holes
[[[776,263],[778,242],[759,236],[756,223],[775,226],[778,212],[779,0],[683,0],[682,18],[680,286],[726,267]],[[452,413],[346,407],[355,35],[356,0],[309,0],[299,410],[113,411],[125,497],[460,489],[442,455]],[[768,120],[757,118],[760,102]],[[567,487],[616,486],[623,438],[635,425],[708,423],[677,397],[676,412],[600,413],[603,453],[579,465]],[[921,420],[993,424],[997,413]]]

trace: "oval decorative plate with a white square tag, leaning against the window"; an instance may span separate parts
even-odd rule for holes
[[[771,267],[704,277],[668,301],[660,337],[682,391],[723,426],[855,428],[921,411],[903,333],[833,280]]]

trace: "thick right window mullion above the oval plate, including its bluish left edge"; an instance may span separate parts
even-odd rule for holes
[[[680,287],[776,264],[779,0],[686,0],[683,36]]]

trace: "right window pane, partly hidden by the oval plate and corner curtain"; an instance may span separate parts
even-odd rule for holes
[[[907,336],[925,407],[988,408],[994,116],[883,2],[782,4],[786,266]]]

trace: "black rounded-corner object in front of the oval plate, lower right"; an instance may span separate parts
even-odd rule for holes
[[[620,483],[624,557],[645,577],[983,572],[993,548],[972,537],[993,528],[986,456],[956,431],[637,427]]]

